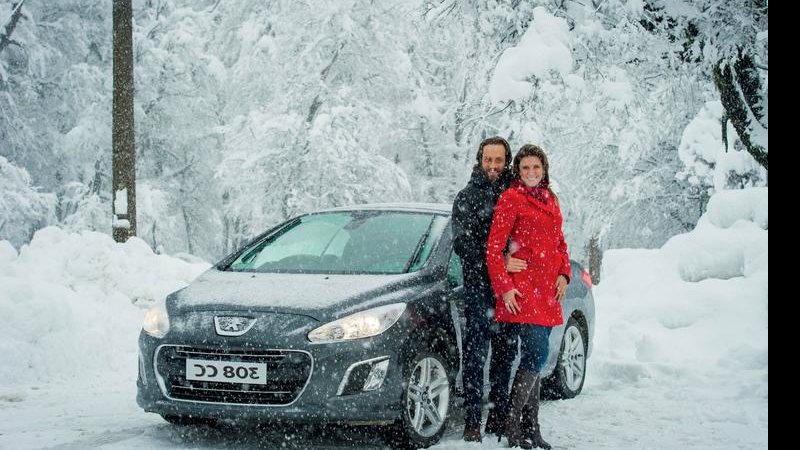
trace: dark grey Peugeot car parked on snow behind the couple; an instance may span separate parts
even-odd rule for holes
[[[176,424],[379,425],[428,447],[459,392],[462,274],[451,206],[374,204],[300,215],[150,309],[137,403]],[[577,395],[594,332],[586,271],[572,263],[542,373]]]

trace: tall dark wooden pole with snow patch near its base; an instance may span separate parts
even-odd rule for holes
[[[114,0],[113,235],[136,236],[136,149],[133,134],[133,26],[131,0]],[[125,196],[125,198],[117,198]]]

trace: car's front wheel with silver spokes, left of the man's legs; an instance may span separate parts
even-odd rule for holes
[[[439,442],[447,428],[454,381],[447,358],[421,350],[403,370],[402,413],[390,427],[394,448],[426,448]]]

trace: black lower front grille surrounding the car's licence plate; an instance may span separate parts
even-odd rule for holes
[[[217,383],[186,379],[186,359],[267,364],[267,384]],[[213,403],[283,406],[295,401],[311,376],[311,355],[295,350],[227,350],[164,346],[156,352],[156,371],[167,397]]]

